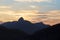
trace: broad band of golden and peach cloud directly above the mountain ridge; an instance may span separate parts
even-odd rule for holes
[[[34,8],[35,6],[32,6]],[[38,10],[16,10],[13,11],[9,6],[0,6],[0,21],[16,21],[20,17],[33,23],[45,22],[55,24],[60,22],[60,10],[51,10],[48,12],[39,12]]]

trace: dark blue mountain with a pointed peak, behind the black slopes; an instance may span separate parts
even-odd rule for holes
[[[2,25],[8,29],[19,29],[19,30],[21,29],[28,34],[33,34],[35,31],[49,27],[48,25],[45,25],[42,22],[33,24],[27,20],[24,20],[23,17],[21,17],[18,21],[6,22]]]

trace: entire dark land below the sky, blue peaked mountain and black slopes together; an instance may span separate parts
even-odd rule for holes
[[[0,40],[60,40],[60,24],[33,24],[20,18],[0,25]]]

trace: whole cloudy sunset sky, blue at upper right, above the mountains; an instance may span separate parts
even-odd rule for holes
[[[0,0],[0,21],[20,17],[33,23],[60,23],[60,0]]]

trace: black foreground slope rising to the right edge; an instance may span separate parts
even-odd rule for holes
[[[48,28],[42,29],[35,32],[30,36],[32,40],[60,40],[60,24],[50,26]]]

